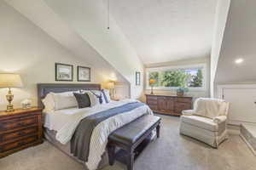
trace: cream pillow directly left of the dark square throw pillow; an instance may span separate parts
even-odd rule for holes
[[[74,92],[64,92],[61,94],[52,94],[53,99],[55,101],[55,111],[77,107],[78,102],[77,99],[73,95]]]

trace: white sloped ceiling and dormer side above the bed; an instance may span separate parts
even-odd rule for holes
[[[143,63],[124,33],[112,20],[112,29],[107,29],[107,8],[102,0],[5,0],[20,14],[74,54],[83,59],[92,59],[87,49],[95,49],[102,59],[130,82],[131,98],[143,93],[142,85],[136,86],[135,73],[143,73]],[[93,51],[93,50],[90,50]],[[90,57],[87,57],[87,56]],[[98,59],[99,62],[100,59]],[[104,75],[104,72],[102,72]],[[112,78],[112,77],[109,77]]]

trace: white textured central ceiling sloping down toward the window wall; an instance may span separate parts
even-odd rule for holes
[[[110,0],[110,11],[143,63],[151,64],[210,54],[216,4],[216,0]]]

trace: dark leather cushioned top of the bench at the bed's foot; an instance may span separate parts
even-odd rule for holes
[[[154,127],[157,123],[160,123],[159,116],[142,116],[111,133],[108,140],[121,144],[132,145],[136,143],[137,140],[143,136],[143,134],[150,130],[152,131],[152,127]]]

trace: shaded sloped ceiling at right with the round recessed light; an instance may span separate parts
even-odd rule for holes
[[[255,7],[255,0],[231,0],[215,82],[256,82]],[[244,62],[237,65],[239,58]]]

